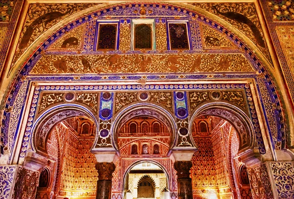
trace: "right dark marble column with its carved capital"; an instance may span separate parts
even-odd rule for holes
[[[177,175],[178,199],[193,199],[192,179],[190,169],[192,161],[175,161],[174,169]]]

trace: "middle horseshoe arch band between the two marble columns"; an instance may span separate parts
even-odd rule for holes
[[[173,115],[173,113],[171,113],[170,111],[167,111],[166,109],[160,106],[147,104],[147,103],[140,103],[140,104],[131,105],[125,108],[123,111],[119,112],[115,116],[110,132],[112,133],[111,141],[116,150],[119,150],[119,147],[118,147],[119,130],[121,129],[124,123],[126,123],[128,120],[137,116],[151,116],[160,120],[162,123],[166,124],[167,128],[169,129],[171,133],[170,149],[174,147],[177,140],[177,133],[176,133],[177,127],[176,127],[176,123],[174,119],[175,116]]]

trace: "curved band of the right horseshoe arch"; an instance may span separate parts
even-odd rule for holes
[[[236,130],[240,145],[239,153],[252,149],[255,143],[255,132],[250,118],[240,109],[221,102],[202,105],[192,111],[189,123],[189,131],[192,129],[194,120],[203,115],[213,115],[227,120]]]

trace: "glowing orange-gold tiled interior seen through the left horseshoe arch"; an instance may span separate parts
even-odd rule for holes
[[[47,138],[48,166],[41,172],[36,199],[95,197],[97,160],[90,152],[95,137],[95,123],[87,117],[57,122]]]

